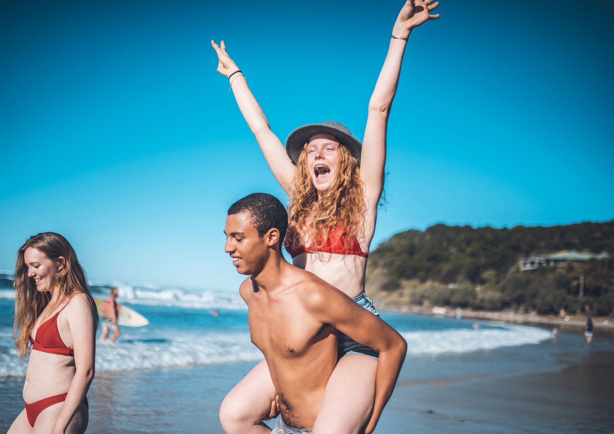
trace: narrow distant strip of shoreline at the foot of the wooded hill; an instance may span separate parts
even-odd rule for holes
[[[406,304],[378,303],[375,302],[376,308],[381,311],[403,312],[410,314],[418,314],[432,317],[455,318],[456,310],[444,308],[445,313],[435,314],[432,307],[427,306],[408,306]],[[561,317],[558,315],[540,315],[536,313],[519,314],[514,311],[473,311],[471,309],[462,309],[462,318],[483,319],[489,321],[506,322],[510,324],[526,324],[537,325],[542,327],[558,327],[559,331],[581,331],[585,330],[586,316],[585,315],[566,315]],[[567,318],[567,320],[565,320]],[[605,331],[608,334],[614,335],[614,319],[607,316],[593,316],[594,329],[597,331]]]

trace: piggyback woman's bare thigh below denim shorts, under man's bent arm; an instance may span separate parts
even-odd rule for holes
[[[356,434],[362,429],[373,411],[377,363],[363,354],[339,360],[328,379],[314,434]]]

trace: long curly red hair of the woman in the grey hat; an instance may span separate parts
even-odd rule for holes
[[[367,212],[358,160],[345,145],[338,143],[335,179],[328,193],[318,200],[307,167],[307,145],[301,151],[292,179],[287,242],[295,250],[305,242],[319,249],[326,244],[331,231],[340,226],[348,235],[345,247],[349,248],[354,236],[359,239],[364,236]]]

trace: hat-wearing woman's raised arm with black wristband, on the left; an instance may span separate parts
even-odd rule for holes
[[[281,185],[286,193],[289,193],[295,166],[292,164],[290,157],[288,157],[284,145],[278,136],[271,131],[268,120],[262,108],[260,108],[260,104],[254,98],[254,94],[249,90],[243,73],[236,72],[239,71],[239,68],[236,66],[235,61],[228,56],[224,41],[221,41],[220,45],[217,45],[215,41],[211,41],[211,46],[216,50],[217,60],[219,61],[217,72],[225,77],[229,77],[228,81],[235,94],[239,110],[241,110],[241,114],[243,114],[249,129],[256,136],[266,163],[268,163],[279,185]]]

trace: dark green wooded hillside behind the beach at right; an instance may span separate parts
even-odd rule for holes
[[[521,271],[534,256],[608,254]],[[614,314],[614,220],[495,229],[434,225],[395,234],[369,255],[367,289],[410,304]]]

